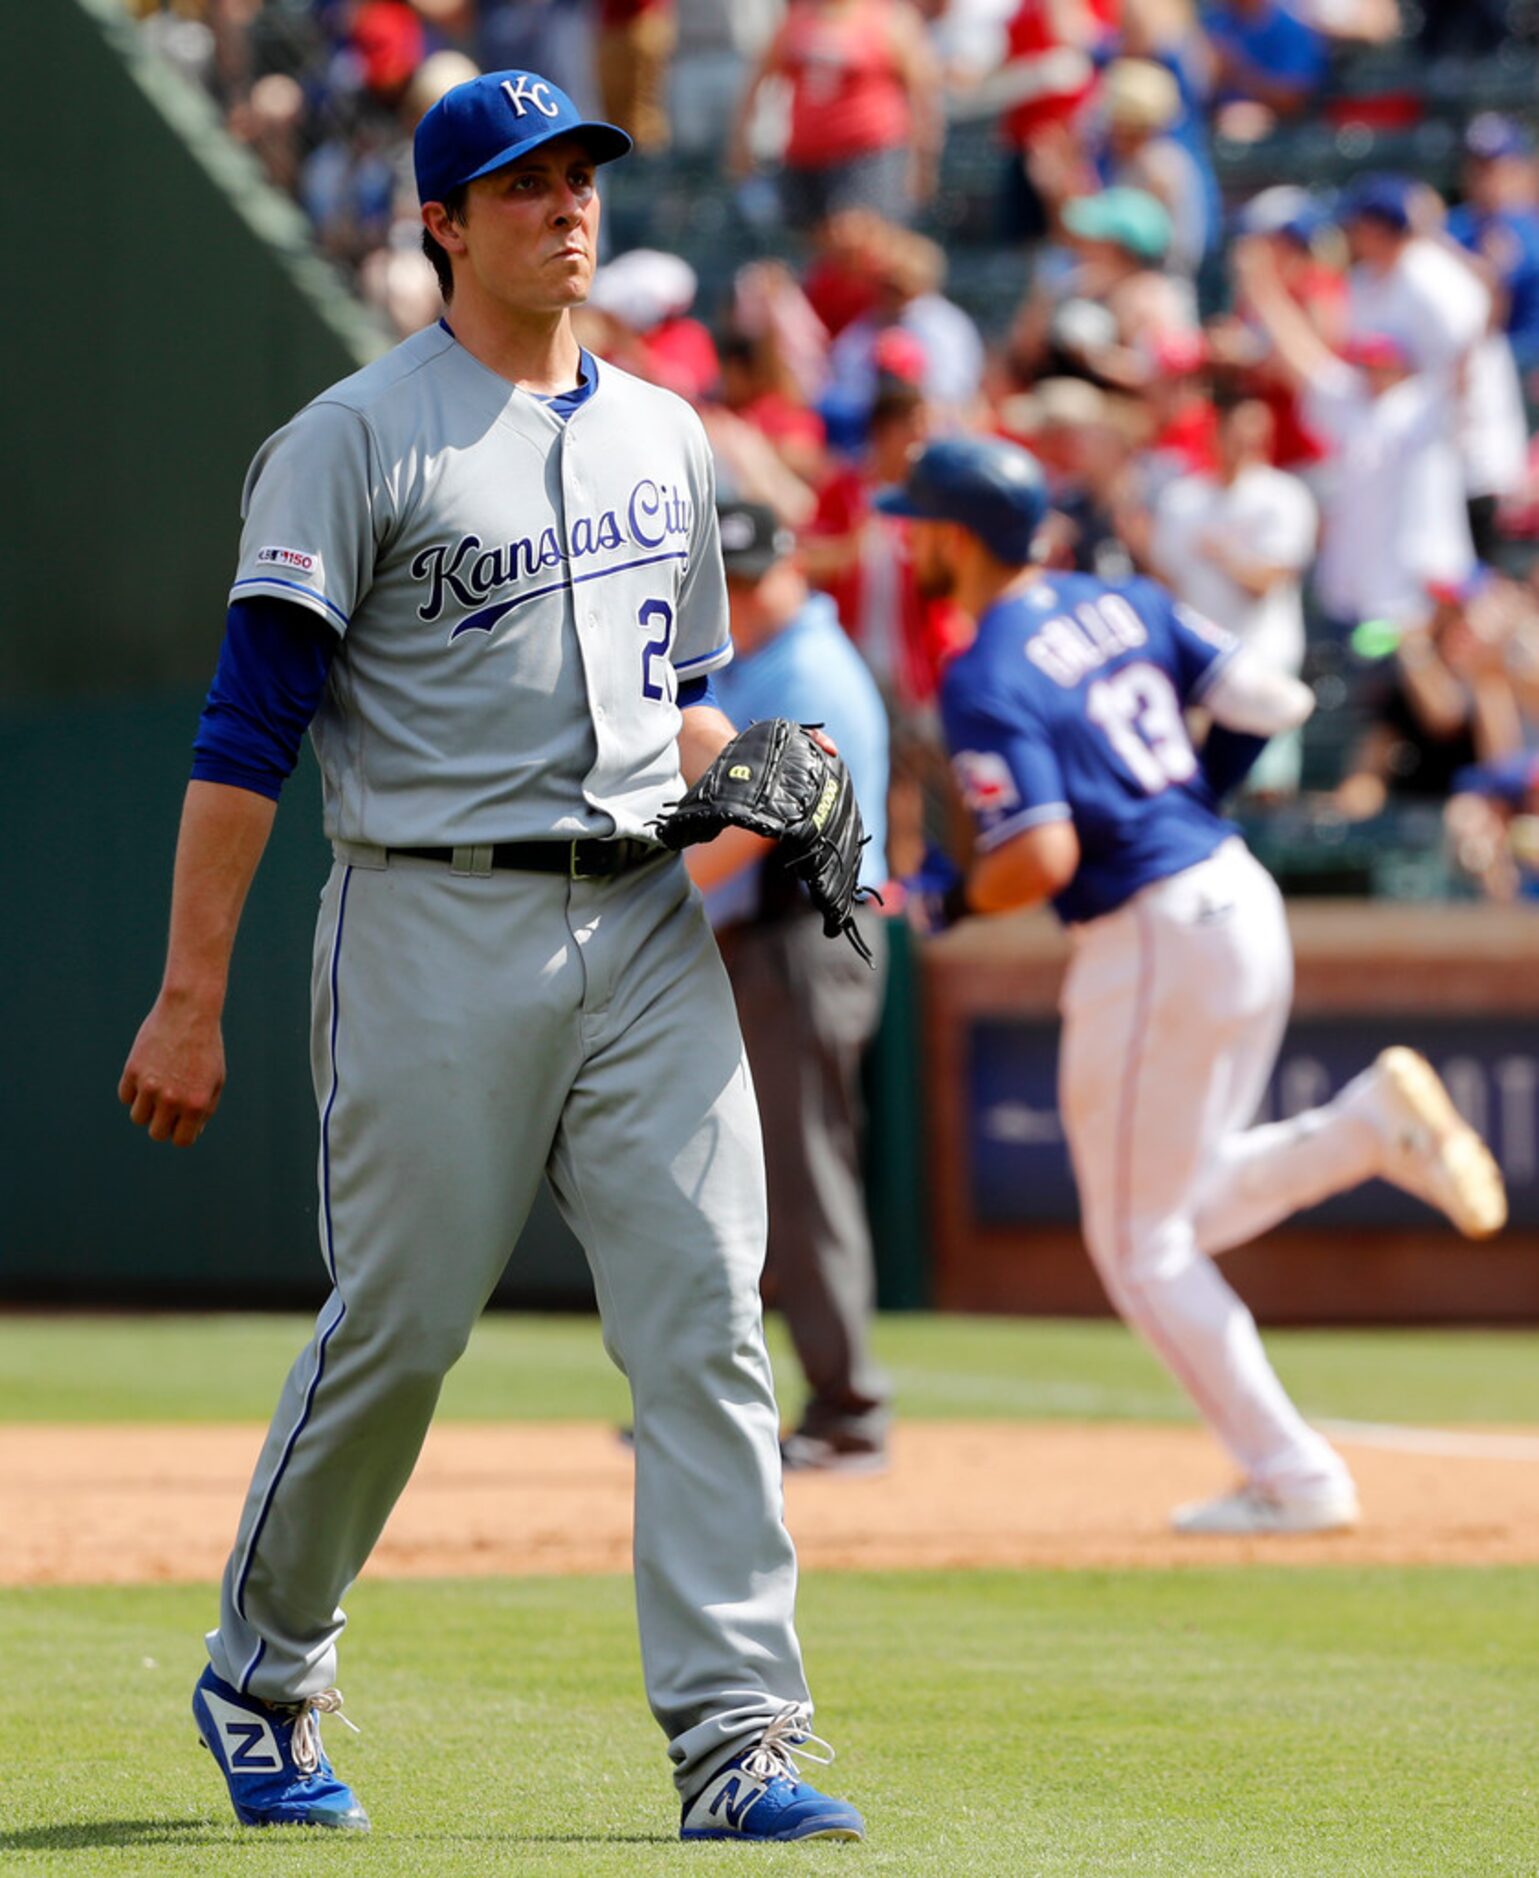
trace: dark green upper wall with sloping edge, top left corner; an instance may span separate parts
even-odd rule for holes
[[[387,338],[115,0],[6,51],[0,699],[197,684],[252,453]]]

